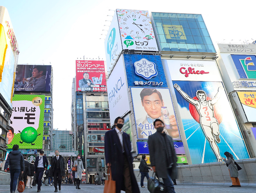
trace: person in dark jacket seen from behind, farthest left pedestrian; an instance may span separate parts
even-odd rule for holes
[[[7,172],[9,166],[11,174],[10,192],[14,193],[17,186],[19,173],[24,172],[24,158],[23,155],[18,151],[19,146],[13,145],[12,151],[9,153],[7,160],[4,165],[4,171]]]

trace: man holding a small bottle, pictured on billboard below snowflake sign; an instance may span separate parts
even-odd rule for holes
[[[151,125],[153,127],[153,122],[156,119],[163,120],[162,113],[161,113],[161,107],[164,107],[164,101],[162,98],[162,94],[155,88],[144,88],[141,93],[141,105],[144,107],[145,111],[147,112],[146,117],[142,117],[140,119],[136,119],[137,127],[140,127],[140,125],[145,126]],[[178,133],[178,127],[176,123],[176,119],[174,115],[170,115],[169,122],[172,126],[172,129],[170,129],[169,132],[167,132],[166,129],[164,129],[164,132],[167,135],[170,135],[172,138],[177,138],[179,136]],[[146,127],[146,126],[145,126]],[[138,134],[139,139],[147,138],[146,134]]]

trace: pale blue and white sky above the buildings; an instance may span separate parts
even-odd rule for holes
[[[255,15],[248,7],[255,1],[1,1],[8,9],[19,45],[18,64],[53,66],[54,128],[71,129],[71,86],[77,58],[105,60],[104,38],[113,11],[136,9],[150,12],[202,14],[216,42],[255,37]],[[248,10],[247,10],[248,9]],[[100,39],[103,38],[103,39]],[[67,120],[63,122],[63,120]]]

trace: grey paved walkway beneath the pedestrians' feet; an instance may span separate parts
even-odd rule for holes
[[[145,185],[145,183],[144,183]],[[94,184],[81,184],[81,190],[75,189],[73,184],[63,184],[61,185],[61,191],[58,193],[103,193],[104,186],[94,185]],[[139,186],[140,187],[140,186]],[[255,192],[255,187],[234,187],[231,188],[229,186],[213,186],[213,185],[176,185],[175,192],[176,193],[216,193],[216,192],[232,192],[232,193],[248,193]],[[54,193],[54,186],[41,186],[40,193]],[[10,193],[9,185],[0,185],[1,193]],[[33,188],[25,189],[24,193],[36,193],[37,187],[33,186]],[[140,187],[141,193],[149,193],[147,186],[146,188]],[[18,193],[16,190],[15,193]],[[122,193],[124,193],[122,191]]]

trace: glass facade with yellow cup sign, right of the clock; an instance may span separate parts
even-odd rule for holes
[[[152,12],[161,51],[215,53],[200,14]]]

